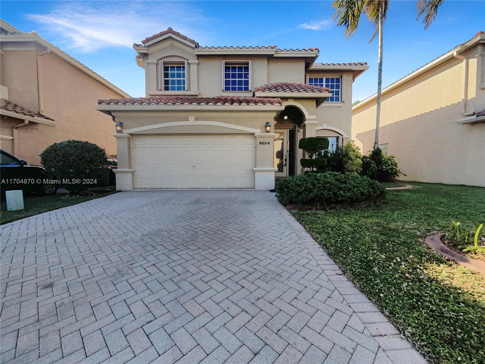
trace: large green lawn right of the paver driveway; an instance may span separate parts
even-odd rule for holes
[[[431,363],[483,363],[485,277],[422,241],[450,219],[485,223],[485,188],[411,184],[377,206],[291,214]]]

